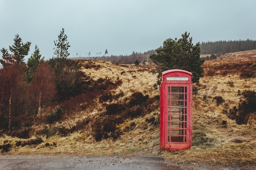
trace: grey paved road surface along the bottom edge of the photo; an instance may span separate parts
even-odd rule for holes
[[[160,157],[0,155],[0,170],[180,170]]]

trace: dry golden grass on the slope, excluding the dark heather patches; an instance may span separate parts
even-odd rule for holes
[[[248,54],[249,52],[245,53]],[[243,57],[243,60],[254,62],[255,59],[251,51],[249,58]],[[242,62],[241,58],[236,56],[245,55],[235,53],[221,56],[223,60],[217,59],[206,61],[204,69],[213,65],[232,64]],[[224,59],[225,58],[225,59]],[[84,61],[86,62],[89,61]],[[91,61],[90,61],[91,62]],[[113,93],[124,92],[124,96],[118,99],[121,102],[134,92],[148,94],[149,97],[159,95],[159,89],[155,89],[153,84],[156,82],[156,75],[148,73],[152,66],[148,68],[136,67],[132,65],[117,65],[103,61],[93,61],[100,68],[84,69],[87,75],[94,80],[100,77],[108,77],[115,82],[122,80]],[[142,71],[144,69],[144,71]],[[216,71],[218,72],[218,71]],[[233,82],[233,85],[230,83]],[[189,150],[180,152],[168,152],[159,150],[159,156],[173,161],[202,161],[222,164],[256,165],[256,125],[255,121],[249,128],[247,125],[237,125],[227,115],[222,114],[223,109],[238,106],[240,95],[238,91],[251,90],[256,91],[256,78],[241,78],[240,72],[232,72],[227,75],[216,75],[214,77],[205,76],[200,79],[200,88],[198,95],[193,98],[193,146]],[[221,96],[225,104],[217,106],[213,97]],[[118,102],[113,101],[113,102]],[[97,101],[96,101],[97,102]],[[101,104],[99,104],[101,107]],[[99,108],[84,110],[81,117],[92,116],[97,118]],[[101,110],[103,112],[103,110]],[[146,122],[146,118],[155,117],[159,119],[159,110],[154,110],[144,117],[136,119],[127,119],[119,124],[123,132],[121,137],[113,141],[105,139],[96,142],[90,135],[90,128],[81,130],[67,137],[58,135],[49,137],[40,136],[43,139],[41,144],[31,146],[15,146],[16,141],[25,141],[27,139],[18,139],[4,136],[0,138],[0,145],[4,141],[12,144],[12,148],[7,153],[2,154],[49,154],[49,155],[78,155],[78,156],[140,156],[152,152],[153,146],[159,145],[159,126]],[[135,126],[130,126],[134,122]],[[34,137],[36,138],[36,137]]]

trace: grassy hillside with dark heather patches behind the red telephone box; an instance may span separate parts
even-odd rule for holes
[[[80,62],[93,82],[88,88],[92,94],[63,102],[64,108],[76,109],[63,112],[55,123],[40,121],[30,139],[2,136],[1,154],[145,156],[159,145],[159,89],[153,87],[156,75],[148,73],[154,65]],[[246,92],[256,91],[256,51],[225,54],[206,61],[203,68],[204,77],[194,84],[199,91],[193,96],[193,146],[154,153],[180,162],[255,165],[256,113],[241,124],[235,108],[243,106]]]

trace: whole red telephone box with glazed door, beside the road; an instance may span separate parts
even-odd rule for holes
[[[160,148],[184,150],[192,146],[192,73],[162,72],[160,85]]]

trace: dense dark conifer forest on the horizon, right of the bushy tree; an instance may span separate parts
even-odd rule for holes
[[[256,40],[216,41],[200,43],[200,54],[225,54],[256,49]]]

